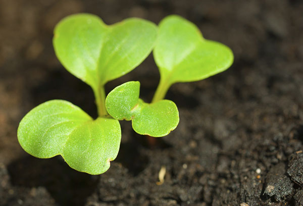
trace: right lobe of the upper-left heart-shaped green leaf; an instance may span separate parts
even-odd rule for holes
[[[157,38],[157,26],[129,18],[110,26],[108,36],[98,67],[103,84],[130,72],[150,54]]]

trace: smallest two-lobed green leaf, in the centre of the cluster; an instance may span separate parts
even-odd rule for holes
[[[139,134],[165,136],[179,123],[179,112],[171,100],[147,104],[139,98],[140,83],[126,82],[113,89],[106,97],[106,109],[117,120],[132,120]]]

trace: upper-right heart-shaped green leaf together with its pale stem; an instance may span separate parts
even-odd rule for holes
[[[233,62],[229,47],[203,38],[193,23],[176,15],[160,22],[154,58],[161,74],[161,91],[153,101],[164,98],[173,83],[205,79],[226,70]]]

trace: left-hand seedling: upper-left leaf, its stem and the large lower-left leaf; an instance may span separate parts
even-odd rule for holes
[[[156,37],[157,26],[137,18],[110,26],[89,14],[63,19],[55,28],[56,55],[70,73],[91,86],[99,117],[93,120],[65,100],[46,101],[20,122],[23,149],[37,158],[61,155],[81,172],[107,171],[117,157],[121,129],[105,109],[104,85],[137,67],[150,54]]]

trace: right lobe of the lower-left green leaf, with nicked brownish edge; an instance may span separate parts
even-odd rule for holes
[[[80,172],[97,175],[110,168],[120,148],[119,121],[97,118],[74,130],[65,143],[62,157],[67,164]]]

